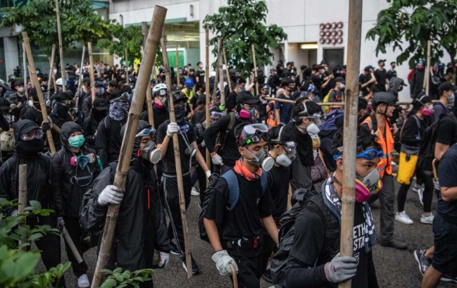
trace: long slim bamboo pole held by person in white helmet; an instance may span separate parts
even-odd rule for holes
[[[170,109],[170,123],[175,123],[175,107],[173,106],[173,93],[171,92],[171,75],[170,63],[168,62],[167,46],[165,44],[165,30],[162,32],[161,37],[162,56],[163,56],[163,69],[165,70],[165,82],[167,84],[168,92],[168,108]],[[180,157],[180,142],[177,139],[177,133],[173,133],[173,150],[175,154],[175,167],[177,177],[177,191],[180,195],[180,210],[182,218],[182,232],[184,232],[184,246],[186,250],[186,265],[187,265],[187,278],[192,277],[192,258],[190,253],[190,239],[189,239],[189,226],[187,225],[186,217],[186,201],[184,199],[184,187],[182,186],[182,167]]]

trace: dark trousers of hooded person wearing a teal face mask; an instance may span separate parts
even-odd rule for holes
[[[70,238],[73,240],[77,251],[79,251],[82,256],[82,254],[87,251],[89,247],[87,247],[84,242],[82,242],[79,219],[77,217],[65,217],[63,220],[65,221],[65,228],[67,228],[68,234],[70,234]],[[68,246],[67,242],[65,242],[65,249],[67,251],[68,260],[71,262],[71,268],[73,268],[73,273],[75,276],[80,277],[83,274],[87,274],[87,264],[84,259],[82,263],[77,263],[76,258],[73,255],[73,252],[71,251],[70,246]]]

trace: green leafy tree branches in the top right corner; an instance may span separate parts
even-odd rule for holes
[[[427,56],[427,41],[432,41],[432,60],[443,56],[443,49],[451,56],[457,54],[457,1],[456,0],[387,0],[389,8],[377,15],[375,27],[366,35],[377,41],[376,55],[385,53],[387,46],[401,54],[398,63],[409,60],[413,67]],[[405,43],[407,45],[405,45]],[[453,65],[454,66],[454,65]]]

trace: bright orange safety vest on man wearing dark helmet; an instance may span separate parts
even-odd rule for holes
[[[387,120],[386,123],[386,134],[385,139],[384,135],[382,134],[379,127],[377,127],[377,132],[380,137],[376,140],[382,147],[382,156],[380,158],[380,162],[377,163],[377,172],[380,173],[380,177],[384,177],[384,172],[387,172],[388,175],[392,175],[392,152],[394,151],[394,137],[392,136],[392,132],[390,131],[389,123]],[[373,130],[373,123],[371,121],[371,117],[367,117],[362,124],[368,125],[370,130]]]

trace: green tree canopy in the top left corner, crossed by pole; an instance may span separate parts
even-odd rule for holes
[[[110,23],[92,11],[86,0],[59,0],[61,13],[62,45],[65,48],[72,42],[96,42],[107,35]],[[0,27],[20,25],[26,31],[30,42],[49,49],[58,44],[56,2],[34,0],[23,7],[7,7]],[[22,37],[22,35],[18,35]],[[94,43],[95,44],[95,43]]]

